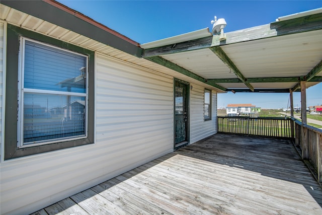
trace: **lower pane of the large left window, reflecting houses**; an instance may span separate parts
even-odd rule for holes
[[[85,135],[85,97],[25,93],[24,145]]]

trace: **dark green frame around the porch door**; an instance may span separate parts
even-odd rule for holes
[[[186,127],[187,127],[187,131],[186,131],[186,141],[183,141],[179,144],[176,144],[176,82],[180,82],[181,84],[186,85],[186,108],[187,108],[187,123],[186,123]],[[190,142],[190,83],[189,82],[185,82],[182,81],[180,79],[176,79],[174,78],[174,82],[173,82],[173,116],[174,116],[174,135],[173,135],[173,142],[174,142],[174,151],[185,147],[187,145],[189,145]]]

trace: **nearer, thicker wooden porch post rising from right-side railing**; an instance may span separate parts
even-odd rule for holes
[[[308,133],[307,129],[303,127],[306,125],[306,86],[305,81],[300,82],[301,86],[301,117],[302,117],[302,127],[301,127],[301,146],[302,146],[302,159],[308,159]]]

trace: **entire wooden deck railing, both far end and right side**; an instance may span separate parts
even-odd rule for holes
[[[290,117],[218,116],[218,133],[286,137],[294,141],[303,160],[313,167],[313,175],[322,182],[322,130],[303,125]]]

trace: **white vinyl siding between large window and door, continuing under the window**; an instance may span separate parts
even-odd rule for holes
[[[173,151],[173,78],[96,61],[95,144],[3,162],[1,214],[43,208]]]

